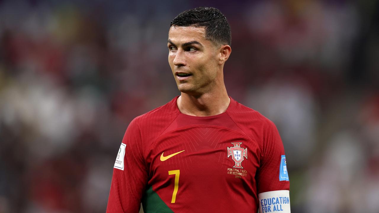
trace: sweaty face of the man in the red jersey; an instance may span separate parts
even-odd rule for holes
[[[219,51],[205,39],[203,27],[171,27],[167,45],[168,62],[180,92],[199,95],[216,87]]]

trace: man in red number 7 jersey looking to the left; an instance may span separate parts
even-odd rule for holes
[[[107,212],[290,212],[283,144],[275,125],[227,95],[226,17],[180,13],[168,61],[181,92],[136,117],[114,164]]]

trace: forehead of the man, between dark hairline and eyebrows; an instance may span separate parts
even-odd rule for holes
[[[170,27],[168,38],[174,43],[185,43],[189,41],[207,42],[204,27]]]

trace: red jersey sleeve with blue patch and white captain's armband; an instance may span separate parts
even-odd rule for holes
[[[263,136],[263,150],[258,169],[257,191],[259,212],[290,212],[290,181],[282,139],[273,122]]]

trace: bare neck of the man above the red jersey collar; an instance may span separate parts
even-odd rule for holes
[[[225,85],[198,96],[181,93],[177,105],[181,113],[191,116],[213,116],[224,113],[229,107],[230,99]]]

